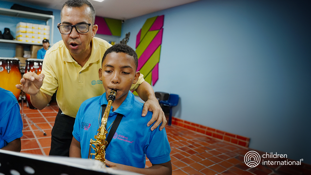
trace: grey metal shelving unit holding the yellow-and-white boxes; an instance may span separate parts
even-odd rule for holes
[[[21,10],[12,10],[8,8],[0,8],[0,15],[6,15],[11,17],[21,17],[21,18],[29,18],[29,19],[36,19],[36,20],[44,20],[46,21],[46,25],[49,25],[49,20],[52,19],[51,24],[51,33],[50,33],[50,43],[53,45],[53,32],[54,32],[54,15],[46,15],[41,13],[34,13],[34,12],[25,12]],[[16,40],[1,40],[0,42],[6,43],[18,43],[18,44],[29,44],[29,45],[42,45],[42,44],[35,44],[30,42],[21,42]]]

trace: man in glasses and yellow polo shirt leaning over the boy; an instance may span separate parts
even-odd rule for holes
[[[21,84],[16,85],[30,94],[31,103],[38,109],[47,106],[57,90],[56,100],[60,109],[52,129],[49,155],[69,156],[73,125],[81,103],[105,92],[98,71],[104,52],[111,45],[94,37],[98,29],[94,21],[95,10],[88,0],[65,2],[58,25],[63,40],[46,52],[41,74],[27,72]],[[145,101],[142,116],[146,115],[147,110],[153,112],[147,126],[157,120],[151,130],[161,122],[162,130],[166,119],[151,85],[141,76],[131,90],[136,90]]]

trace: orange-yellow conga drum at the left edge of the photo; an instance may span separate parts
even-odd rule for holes
[[[17,58],[0,57],[0,87],[11,91],[18,100],[21,90],[15,87],[21,84],[21,64]]]

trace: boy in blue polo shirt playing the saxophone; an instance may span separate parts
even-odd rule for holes
[[[152,112],[148,111],[146,117],[141,117],[143,103],[129,92],[140,75],[136,72],[137,66],[137,54],[128,45],[116,44],[106,50],[102,69],[98,71],[106,92],[81,104],[73,127],[69,156],[88,158],[90,139],[97,134],[101,112],[105,111],[102,109],[100,112],[100,106],[108,104],[108,95],[114,89],[117,94],[107,121],[108,132],[117,114],[124,116],[106,148],[106,165],[141,174],[172,174],[171,150],[165,129],[151,131],[151,126],[145,127]],[[95,153],[93,149],[92,153]],[[152,163],[149,168],[145,168],[146,156]]]

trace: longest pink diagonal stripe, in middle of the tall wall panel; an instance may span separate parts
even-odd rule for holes
[[[139,57],[138,68],[137,68],[138,71],[147,62],[147,60],[151,57],[151,55],[156,51],[159,45],[162,44],[162,34],[163,34],[163,28],[158,32],[156,37],[151,41],[151,43],[148,45],[144,53],[142,53],[142,55]]]

